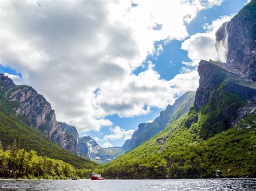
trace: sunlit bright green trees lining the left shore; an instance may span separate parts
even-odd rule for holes
[[[92,169],[75,169],[62,160],[38,156],[36,151],[25,151],[14,140],[12,146],[2,148],[0,142],[0,177],[23,179],[89,178]]]

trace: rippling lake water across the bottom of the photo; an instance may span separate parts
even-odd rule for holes
[[[36,190],[173,190],[256,189],[256,179],[179,180],[0,180],[0,189]]]

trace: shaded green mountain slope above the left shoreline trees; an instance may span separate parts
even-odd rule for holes
[[[33,126],[25,125],[22,118],[16,117],[12,112],[18,104],[6,99],[5,93],[0,90],[0,140],[4,147],[11,145],[16,139],[21,148],[34,150],[38,155],[60,159],[77,168],[95,166],[94,162],[65,151]]]

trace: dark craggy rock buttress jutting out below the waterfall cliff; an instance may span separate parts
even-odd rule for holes
[[[205,65],[205,70],[214,73],[212,76],[207,74],[210,76],[205,80],[206,84],[199,86],[199,89],[210,86],[207,90],[207,104],[198,111],[198,124],[201,128],[199,135],[207,139],[232,126],[232,120],[238,117],[237,110],[253,97],[252,92],[255,94],[255,89],[244,77],[228,72],[217,62],[205,61],[201,65]]]

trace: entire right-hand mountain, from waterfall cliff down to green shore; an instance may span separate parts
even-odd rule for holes
[[[200,61],[190,110],[98,171],[119,179],[256,176],[255,8],[254,0],[217,31],[219,61]]]

